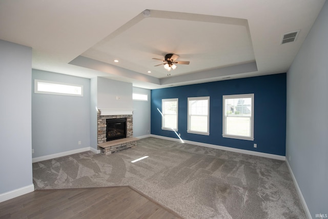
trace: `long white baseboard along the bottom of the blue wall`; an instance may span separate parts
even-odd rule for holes
[[[165,140],[181,142],[181,140],[179,138],[165,137],[165,136],[154,135],[154,134],[151,134],[151,137],[157,137],[157,138],[162,138],[162,139],[165,139]],[[215,148],[215,149],[220,149],[220,150],[225,150],[225,151],[232,151],[232,152],[238,152],[238,153],[243,153],[243,154],[268,157],[268,158],[272,158],[272,159],[276,159],[276,160],[280,160],[280,161],[285,161],[286,160],[285,156],[280,156],[280,155],[276,155],[276,154],[262,153],[262,152],[256,152],[256,151],[248,151],[248,150],[237,149],[237,148],[230,148],[230,147],[224,147],[224,146],[218,146],[218,145],[211,145],[211,144],[206,144],[206,143],[201,143],[201,142],[192,142],[192,141],[188,141],[188,140],[183,140],[183,142],[185,142],[187,144],[191,144],[191,145],[198,145],[198,146],[203,146],[203,147],[208,147],[208,148]]]

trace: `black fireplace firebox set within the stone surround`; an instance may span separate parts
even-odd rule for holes
[[[127,137],[127,118],[106,119],[106,141]]]

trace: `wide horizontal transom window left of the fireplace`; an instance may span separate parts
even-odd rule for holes
[[[34,93],[83,96],[83,86],[35,79]]]

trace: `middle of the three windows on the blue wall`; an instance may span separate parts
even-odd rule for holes
[[[210,97],[188,97],[188,133],[210,134]]]

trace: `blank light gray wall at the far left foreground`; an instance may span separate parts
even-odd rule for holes
[[[33,185],[32,48],[0,40],[0,194]]]

